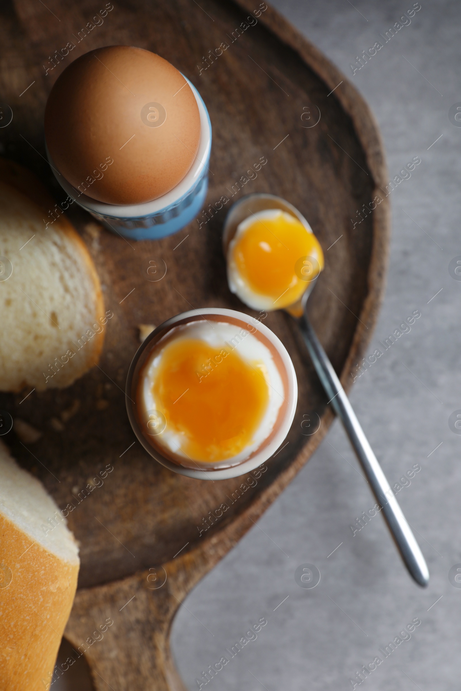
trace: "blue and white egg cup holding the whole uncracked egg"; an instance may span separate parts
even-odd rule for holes
[[[184,77],[184,75],[182,75]],[[169,192],[144,204],[114,205],[98,202],[75,189],[59,173],[48,147],[46,155],[55,178],[68,196],[97,218],[109,230],[132,240],[156,240],[178,232],[203,209],[208,189],[208,164],[211,153],[211,121],[207,106],[194,84],[187,83],[196,97],[200,113],[200,143],[194,163],[185,178]]]

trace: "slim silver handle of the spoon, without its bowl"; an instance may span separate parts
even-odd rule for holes
[[[344,388],[341,386],[341,382],[307,317],[303,315],[298,321],[305,345],[328,396],[328,402],[344,424],[350,443],[354,447],[373,493],[382,507],[382,512],[404,564],[416,583],[426,586],[429,583],[429,569],[424,556],[422,556],[420,546],[417,544],[408,522],[406,522],[402,509],[395,499],[373,449],[368,444],[368,439],[364,435],[364,430],[360,426]]]

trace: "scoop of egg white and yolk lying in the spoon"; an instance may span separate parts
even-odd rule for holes
[[[309,281],[323,269],[317,238],[301,221],[279,209],[261,211],[244,221],[229,252],[247,287],[270,299],[265,309],[277,310],[297,302]]]

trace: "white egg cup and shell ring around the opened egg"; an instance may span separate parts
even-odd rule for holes
[[[264,440],[264,442],[250,455],[250,457],[238,465],[223,467],[226,461],[222,464],[206,464],[196,463],[196,468],[179,465],[163,455],[159,446],[153,446],[149,442],[149,430],[144,424],[136,408],[137,389],[140,372],[144,363],[149,358],[151,351],[156,347],[158,341],[169,332],[173,327],[189,323],[191,321],[213,320],[236,325],[237,329],[244,329],[248,331],[249,328],[253,334],[256,334],[254,329],[258,332],[258,338],[266,345],[272,352],[272,357],[276,360],[277,367],[282,377],[285,388],[285,399],[279,410],[279,417],[272,432]],[[243,312],[235,312],[234,310],[224,310],[218,307],[207,307],[203,310],[191,310],[190,312],[182,312],[171,319],[160,324],[142,343],[138,352],[136,352],[131,366],[129,368],[128,377],[126,379],[125,389],[126,410],[131,422],[133,431],[138,437],[140,443],[156,461],[169,468],[169,470],[186,475],[187,477],[196,477],[199,480],[227,480],[229,477],[238,477],[244,475],[257,468],[262,463],[267,461],[282,444],[285,437],[288,435],[290,427],[293,422],[294,413],[296,411],[298,401],[298,383],[296,373],[294,372],[293,363],[285,346],[279,338],[265,326],[261,321],[254,319],[252,316],[243,314]],[[193,463],[193,462],[192,462]]]

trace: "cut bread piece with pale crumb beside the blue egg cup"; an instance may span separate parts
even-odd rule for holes
[[[2,391],[69,386],[102,350],[108,315],[93,260],[64,216],[49,222],[0,181]]]

